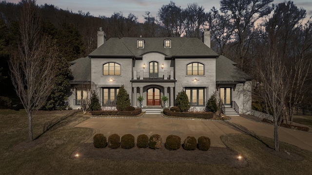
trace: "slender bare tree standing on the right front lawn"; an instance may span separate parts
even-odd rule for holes
[[[288,79],[283,57],[277,47],[278,37],[274,28],[268,28],[265,35],[264,50],[259,53],[257,72],[261,81],[260,94],[263,97],[266,112],[273,116],[274,149],[279,151],[278,127],[286,115],[285,102],[287,101]]]

